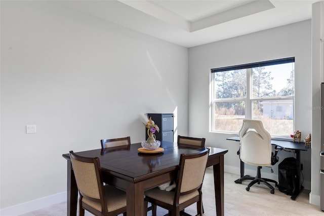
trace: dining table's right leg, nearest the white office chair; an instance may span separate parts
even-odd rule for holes
[[[216,214],[224,216],[224,155],[219,157],[219,163],[213,166]]]

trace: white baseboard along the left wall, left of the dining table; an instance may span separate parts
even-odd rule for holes
[[[54,194],[48,197],[39,198],[36,200],[28,201],[18,205],[10,206],[0,209],[0,215],[2,216],[17,216],[20,214],[28,213],[37,209],[41,209],[50,205],[54,205],[60,202],[64,202],[67,199],[67,192]]]

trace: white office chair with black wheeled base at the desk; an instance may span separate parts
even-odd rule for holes
[[[274,194],[274,188],[268,182],[275,183],[275,187],[278,187],[278,183],[272,179],[261,177],[262,166],[274,165],[277,162],[277,160],[273,160],[273,157],[276,158],[276,154],[272,154],[270,134],[264,129],[260,120],[245,119],[238,135],[240,138],[239,157],[241,161],[258,166],[258,170],[255,177],[246,175],[239,178],[235,183],[240,184],[241,181],[246,179],[252,180],[246,188],[247,191],[250,191],[250,187],[262,182],[271,189],[271,194]]]

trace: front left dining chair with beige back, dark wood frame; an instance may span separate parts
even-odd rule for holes
[[[126,215],[126,193],[103,185],[99,158],[88,158],[70,151],[71,163],[79,191],[79,216],[85,210],[94,215]]]

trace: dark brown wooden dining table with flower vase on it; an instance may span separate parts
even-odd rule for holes
[[[205,147],[161,142],[161,153],[140,153],[141,143],[129,146],[96,149],[75,154],[98,157],[104,182],[127,194],[127,215],[144,215],[144,191],[164,184],[177,176],[181,154],[197,153]],[[224,154],[226,149],[210,149],[207,167],[213,166],[215,205],[217,215],[224,215]],[[67,215],[76,215],[78,190],[69,154],[67,160]]]

